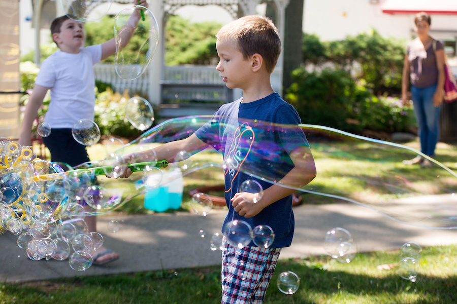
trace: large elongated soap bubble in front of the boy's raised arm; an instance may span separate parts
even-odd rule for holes
[[[140,15],[141,11],[143,12]],[[138,21],[137,25],[136,21]],[[132,31],[133,37],[130,39]],[[117,75],[125,80],[140,77],[151,61],[159,41],[158,25],[154,15],[143,6],[121,10],[114,19],[114,37],[116,39],[114,66]],[[126,51],[126,46],[131,40],[139,42],[133,56]]]

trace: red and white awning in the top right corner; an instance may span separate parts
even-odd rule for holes
[[[457,0],[385,0],[381,7],[386,14],[457,15]]]

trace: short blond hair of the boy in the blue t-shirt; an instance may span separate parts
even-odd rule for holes
[[[254,54],[263,57],[269,73],[275,69],[281,54],[278,29],[267,17],[244,16],[224,25],[216,34],[219,40],[235,40],[244,59]]]

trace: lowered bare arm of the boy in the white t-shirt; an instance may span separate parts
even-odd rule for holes
[[[25,106],[24,118],[21,125],[21,133],[19,135],[19,144],[22,146],[31,145],[31,128],[37,117],[38,109],[43,104],[43,99],[50,88],[40,85],[35,85],[34,89],[28,98],[27,105]]]

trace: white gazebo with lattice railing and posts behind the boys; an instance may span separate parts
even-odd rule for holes
[[[115,3],[129,4],[132,0],[113,0]],[[226,10],[233,19],[246,16],[255,15],[257,13],[257,6],[268,3],[274,8],[275,12],[275,23],[279,30],[281,40],[284,37],[284,18],[285,8],[289,0],[161,0],[161,1],[149,1],[149,10],[154,14],[157,24],[159,25],[160,41],[155,51],[154,56],[151,59],[147,71],[137,80],[125,81],[119,79],[112,65],[95,65],[95,77],[104,82],[111,83],[117,90],[121,91],[123,88],[137,88],[143,91],[147,91],[149,101],[152,104],[159,105],[162,103],[164,98],[164,88],[168,86],[170,90],[176,90],[176,92],[183,92],[182,88],[189,88],[193,86],[193,89],[200,87],[220,86],[222,90],[224,86],[220,82],[218,72],[213,67],[193,66],[193,67],[167,67],[165,66],[165,25],[170,15],[173,15],[178,9],[185,6],[207,6],[216,5]],[[64,15],[59,1],[57,0],[32,0],[34,17],[33,25],[35,27],[35,62],[40,61],[40,29],[49,28],[50,22],[56,16]],[[283,70],[283,55],[278,60],[275,71],[272,74],[272,86],[275,91],[282,93],[282,70]],[[189,71],[191,69],[191,71]],[[180,81],[174,81],[174,75],[181,73]],[[208,76],[208,73],[213,73]],[[217,73],[217,77],[214,74]],[[182,77],[182,75],[192,75],[192,79],[188,77]],[[197,75],[197,76],[195,76]],[[184,83],[183,83],[184,82]],[[215,83],[217,82],[217,84]],[[180,88],[180,86],[182,88]],[[180,91],[181,90],[181,91]],[[184,90],[184,89],[183,89]],[[184,93],[182,93],[184,94]],[[195,96],[194,93],[192,96]],[[231,93],[230,98],[241,97],[241,92],[234,90]],[[177,94],[176,94],[177,95]],[[204,93],[197,94],[202,97]],[[228,95],[226,95],[228,96]],[[204,97],[202,97],[204,99]],[[175,107],[176,108],[176,107]],[[186,110],[188,113],[188,109]],[[212,109],[209,109],[211,112]],[[202,109],[200,112],[202,113]],[[206,112],[205,112],[206,113]],[[187,114],[189,115],[189,114]],[[179,113],[176,115],[179,116]]]

